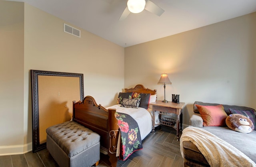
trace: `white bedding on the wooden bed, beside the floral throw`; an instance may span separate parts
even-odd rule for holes
[[[138,126],[140,128],[140,137],[142,140],[152,131],[152,110],[150,110],[150,108],[148,110],[141,107],[139,107],[138,109],[125,108],[125,107],[120,107],[120,104],[116,104],[114,106],[110,106],[106,108],[107,109],[115,108],[116,112],[122,112],[132,116],[132,118],[134,118],[134,120],[136,120],[136,122],[138,123]],[[156,120],[158,120],[157,114],[155,118]]]

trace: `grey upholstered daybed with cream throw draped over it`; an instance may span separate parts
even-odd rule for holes
[[[194,102],[195,114],[190,118],[190,126],[183,130],[180,138],[184,166],[255,166],[256,130],[254,129],[250,133],[240,133],[227,126],[203,126],[203,119],[198,114],[196,104],[201,106],[219,105]],[[231,108],[244,111],[252,110],[255,117],[256,112],[252,108],[223,106],[227,115],[231,114]]]

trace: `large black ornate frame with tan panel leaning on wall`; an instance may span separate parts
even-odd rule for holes
[[[32,151],[46,148],[46,128],[72,119],[72,101],[83,100],[83,74],[30,70]]]

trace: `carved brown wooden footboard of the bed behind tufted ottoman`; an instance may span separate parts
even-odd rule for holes
[[[100,145],[108,149],[109,161],[116,167],[117,142],[119,135],[116,109],[106,109],[98,105],[92,96],[86,96],[81,102],[73,102],[73,121],[82,124],[100,135]]]

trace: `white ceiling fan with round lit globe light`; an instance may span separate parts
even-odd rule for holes
[[[128,0],[127,7],[124,9],[124,12],[120,16],[119,20],[124,20],[131,12],[140,13],[144,9],[153,14],[156,14],[157,16],[161,16],[164,13],[162,8],[150,0]]]

